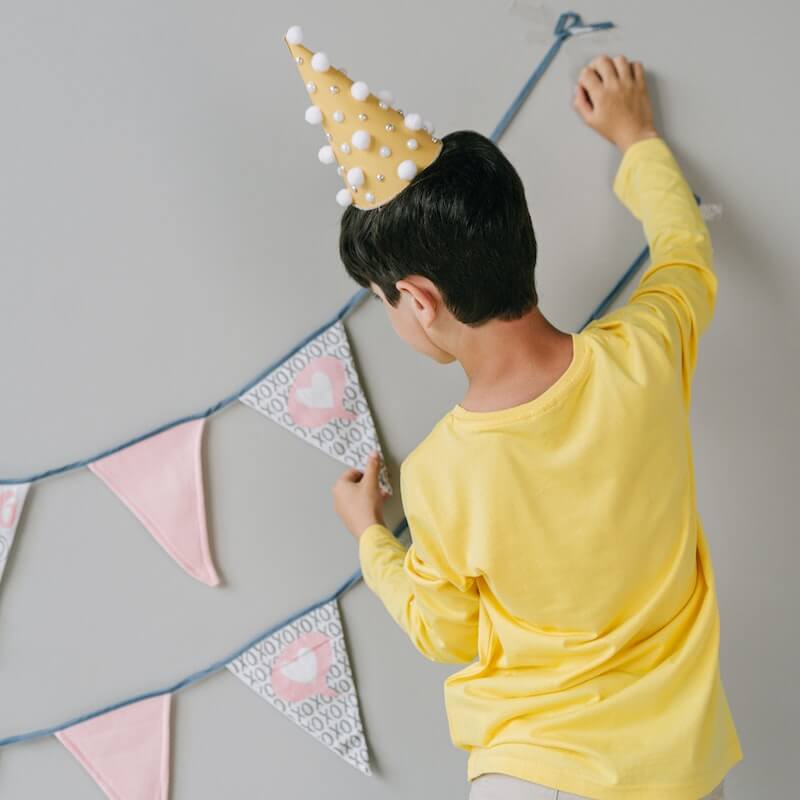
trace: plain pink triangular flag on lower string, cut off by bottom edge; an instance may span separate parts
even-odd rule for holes
[[[165,694],[56,733],[111,800],[169,797],[170,711]]]

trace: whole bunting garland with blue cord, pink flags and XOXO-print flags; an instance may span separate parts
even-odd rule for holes
[[[613,23],[586,25],[573,12],[561,14],[555,42],[491,138],[496,141],[502,135],[566,39],[610,27]],[[697,201],[700,203],[699,197]],[[718,207],[708,208],[714,213]],[[605,313],[647,255],[645,247],[583,327]],[[202,447],[206,419],[239,401],[328,456],[363,469],[370,452],[382,451],[344,319],[368,293],[366,289],[357,291],[333,320],[205,412],[84,461],[25,478],[0,479],[0,578],[30,485],[88,467],[189,575],[209,586],[219,585],[205,510]],[[385,465],[380,484],[391,493]],[[406,526],[402,520],[394,535],[399,536]],[[55,735],[112,800],[167,800],[173,696],[227,670],[347,764],[370,776],[369,751],[338,603],[361,579],[361,571],[356,570],[327,598],[172,686],[61,725],[7,736],[0,739],[0,747]]]

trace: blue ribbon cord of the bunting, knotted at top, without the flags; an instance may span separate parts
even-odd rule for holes
[[[556,37],[555,42],[553,42],[550,49],[545,54],[544,58],[542,59],[539,66],[531,74],[530,78],[526,81],[525,85],[520,90],[519,94],[514,98],[514,101],[509,106],[506,113],[503,115],[502,119],[498,123],[497,127],[492,132],[489,138],[492,141],[496,142],[502,135],[503,132],[508,127],[509,123],[516,115],[517,111],[519,111],[522,103],[524,102],[525,98],[530,94],[531,90],[533,89],[534,84],[541,78],[542,74],[544,73],[545,69],[547,68],[548,64],[553,60],[556,53],[561,48],[566,39],[573,35],[574,32],[580,29],[580,33],[583,33],[587,30],[604,30],[606,28],[613,28],[613,22],[598,22],[592,25],[586,25],[583,20],[581,19],[580,14],[576,14],[573,11],[567,11],[558,18],[558,22],[556,24],[554,30],[554,36]],[[573,30],[574,29],[574,30]],[[701,202],[700,198],[695,195],[695,198],[698,204]],[[581,326],[581,330],[585,328],[592,320],[599,318],[600,316],[605,313],[605,309],[613,302],[614,298],[617,294],[622,290],[625,286],[627,281],[631,278],[631,276],[636,272],[636,270],[644,263],[649,255],[649,247],[645,246],[642,252],[636,257],[630,267],[623,273],[622,277],[617,281],[615,286],[611,289],[611,291],[603,298],[600,305],[592,312],[586,322],[583,323]],[[142,441],[143,439],[147,439],[150,436],[156,436],[157,434],[161,433],[162,431],[168,430],[169,428],[174,427],[175,425],[180,425],[184,422],[188,422],[192,419],[199,419],[201,417],[208,417],[211,414],[215,414],[217,411],[222,410],[226,406],[230,405],[231,403],[235,402],[239,399],[239,396],[244,394],[245,392],[249,391],[253,386],[255,386],[259,381],[261,381],[264,377],[266,377],[270,372],[274,369],[279,367],[284,361],[294,355],[298,350],[304,347],[308,342],[322,333],[324,330],[329,328],[338,320],[344,320],[344,318],[350,314],[350,312],[361,302],[361,300],[369,294],[369,289],[361,288],[353,296],[336,312],[336,314],[328,320],[328,322],[321,325],[315,331],[312,331],[308,336],[306,336],[301,342],[299,342],[292,350],[290,350],[285,355],[281,356],[277,361],[273,362],[264,369],[259,375],[253,378],[246,386],[239,389],[237,392],[229,395],[228,397],[220,400],[218,403],[215,403],[213,406],[210,406],[203,412],[199,412],[196,414],[191,414],[187,417],[182,417],[181,419],[176,419],[173,422],[169,422],[165,425],[162,425],[159,428],[149,431],[148,433],[144,433],[141,436],[138,436],[135,439],[131,439],[130,441],[124,442],[117,447],[113,447],[110,450],[105,450],[102,453],[98,453],[97,455],[91,456],[90,458],[86,458],[82,461],[75,461],[71,464],[65,464],[62,467],[58,467],[55,469],[46,470],[44,472],[40,472],[36,475],[31,475],[27,478],[0,478],[0,485],[2,484],[9,484],[9,483],[32,483],[34,481],[41,480],[42,478],[50,477],[51,475],[58,475],[62,472],[68,472],[69,470],[79,469],[81,467],[85,467],[87,464],[91,463],[92,461],[96,461],[101,458],[105,458],[112,453],[116,453],[118,450],[122,450],[125,447],[129,447],[130,445],[136,444],[137,442]],[[394,529],[393,533],[395,537],[398,537],[405,528],[408,527],[408,522],[405,518],[398,524],[398,526]],[[154,689],[150,692],[145,692],[144,694],[136,695],[135,697],[129,697],[126,700],[121,700],[117,703],[112,705],[105,706],[104,708],[97,709],[96,711],[91,711],[86,714],[82,714],[79,717],[75,717],[73,719],[67,720],[66,722],[62,722],[60,725],[52,725],[49,728],[39,728],[38,730],[28,731],[27,733],[20,733],[15,736],[7,736],[4,739],[0,739],[0,747],[5,747],[6,745],[16,744],[18,742],[25,742],[30,741],[31,739],[39,739],[45,736],[51,736],[58,731],[65,730],[66,728],[70,728],[73,725],[78,725],[81,722],[85,722],[86,720],[93,719],[94,717],[102,716],[103,714],[107,714],[110,711],[114,711],[115,709],[122,708],[123,706],[131,705],[133,703],[138,703],[142,700],[147,700],[151,697],[158,697],[164,694],[173,694],[180,689],[185,689],[187,686],[191,686],[194,683],[198,683],[199,681],[207,678],[209,675],[213,675],[215,672],[219,672],[222,669],[225,669],[226,666],[233,661],[234,659],[238,658],[242,653],[249,650],[251,647],[257,645],[263,639],[266,639],[268,636],[271,636],[275,631],[280,630],[284,626],[288,625],[289,623],[293,622],[294,620],[302,617],[303,615],[307,614],[309,611],[313,611],[315,608],[319,608],[319,606],[325,605],[325,603],[329,603],[334,598],[338,598],[343,595],[351,586],[358,583],[362,579],[361,570],[357,569],[338,589],[336,589],[331,594],[323,597],[322,600],[318,600],[316,603],[312,603],[311,605],[307,606],[306,608],[297,611],[295,614],[287,617],[282,622],[278,622],[272,625],[267,630],[259,633],[249,642],[246,642],[241,647],[239,647],[235,652],[229,654],[225,658],[221,658],[218,661],[215,661],[213,664],[210,664],[205,669],[198,670],[197,672],[193,672],[191,675],[187,675],[182,680],[179,680],[177,683],[173,683],[170,686],[165,686],[162,689]]]

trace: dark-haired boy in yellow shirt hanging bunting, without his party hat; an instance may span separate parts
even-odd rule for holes
[[[651,266],[623,308],[558,330],[520,179],[471,131],[383,208],[347,208],[350,276],[469,388],[401,465],[408,550],[384,525],[378,458],[340,477],[335,509],[420,652],[469,664],[444,688],[472,800],[723,797],[743,754],[689,428],[711,241],[640,62],[593,59],[574,108],[622,153],[613,191]]]

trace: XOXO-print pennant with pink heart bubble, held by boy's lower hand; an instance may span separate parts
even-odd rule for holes
[[[363,470],[369,454],[381,452],[341,320],[289,356],[239,400],[349,467]],[[381,460],[382,456],[381,452]],[[383,463],[379,482],[392,493]]]

